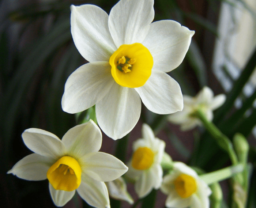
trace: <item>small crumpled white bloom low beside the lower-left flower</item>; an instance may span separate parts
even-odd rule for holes
[[[127,192],[127,186],[122,177],[117,178],[114,181],[106,182],[109,195],[118,200],[127,201],[129,204],[133,204],[131,195]]]

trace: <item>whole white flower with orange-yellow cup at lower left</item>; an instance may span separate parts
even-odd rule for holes
[[[97,208],[110,207],[108,189],[103,181],[113,181],[127,171],[114,156],[98,152],[102,135],[92,121],[77,125],[60,140],[42,129],[22,133],[25,145],[33,152],[7,173],[29,181],[48,178],[54,204],[64,206],[75,194]]]

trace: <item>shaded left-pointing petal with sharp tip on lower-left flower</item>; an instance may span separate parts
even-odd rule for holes
[[[41,181],[47,178],[46,173],[52,164],[52,158],[33,153],[19,160],[7,173],[29,181]]]

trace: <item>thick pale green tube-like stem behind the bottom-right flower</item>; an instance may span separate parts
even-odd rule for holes
[[[229,166],[217,171],[213,171],[211,173],[206,173],[200,175],[199,177],[206,183],[206,184],[213,184],[215,182],[222,181],[224,179],[230,178],[234,174],[241,173],[244,170],[243,164],[237,164],[235,166]]]

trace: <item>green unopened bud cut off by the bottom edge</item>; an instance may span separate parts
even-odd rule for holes
[[[223,199],[222,189],[218,182],[210,185],[212,194],[211,194],[211,207],[212,208],[221,208],[221,203]]]

